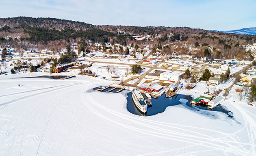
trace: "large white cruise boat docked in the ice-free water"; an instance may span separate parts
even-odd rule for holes
[[[141,92],[138,90],[133,90],[132,91],[132,100],[137,107],[137,109],[141,113],[147,113],[147,103],[144,99],[144,97],[141,95]]]

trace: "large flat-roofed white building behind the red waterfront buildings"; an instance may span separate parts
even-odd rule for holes
[[[160,80],[176,82],[182,79],[184,73],[185,72],[167,71],[160,74]]]

